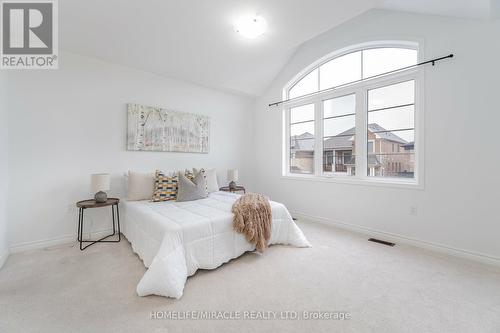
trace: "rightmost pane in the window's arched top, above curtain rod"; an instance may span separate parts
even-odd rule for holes
[[[417,63],[417,51],[401,48],[363,50],[363,78]]]

